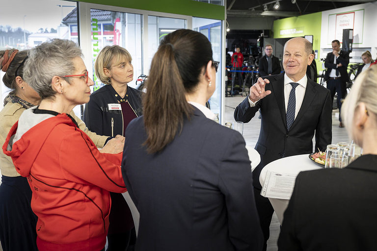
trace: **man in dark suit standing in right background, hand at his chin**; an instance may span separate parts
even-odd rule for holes
[[[331,92],[331,100],[335,93],[338,93],[337,103],[339,107],[339,127],[344,127],[340,116],[342,100],[347,95],[346,82],[349,80],[347,66],[350,63],[350,56],[347,52],[340,50],[340,43],[334,40],[331,43],[332,52],[327,53],[324,67],[327,68],[324,79],[327,80],[327,89]]]

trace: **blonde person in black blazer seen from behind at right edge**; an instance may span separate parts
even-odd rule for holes
[[[279,251],[377,250],[377,66],[362,72],[342,117],[363,155],[343,169],[301,172],[284,213]]]

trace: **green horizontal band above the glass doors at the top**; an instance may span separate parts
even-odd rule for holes
[[[225,7],[210,3],[193,0],[80,0],[106,4],[112,6],[126,7],[132,9],[159,11],[180,15],[188,15],[201,18],[217,20],[225,19]]]

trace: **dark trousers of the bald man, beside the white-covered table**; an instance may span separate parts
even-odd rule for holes
[[[269,225],[271,224],[274,210],[271,203],[269,202],[269,199],[261,195],[261,189],[254,187],[254,198],[259,215],[259,222],[261,224],[264,236],[263,251],[266,251],[267,241],[269,239]]]

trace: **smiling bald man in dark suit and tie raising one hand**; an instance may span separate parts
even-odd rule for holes
[[[284,46],[285,73],[259,78],[250,88],[250,95],[235,112],[236,121],[249,122],[261,109],[262,124],[255,149],[261,162],[253,171],[255,202],[264,233],[264,250],[269,239],[273,208],[262,197],[259,175],[268,163],[287,156],[311,153],[315,134],[321,151],[331,143],[330,91],[306,76],[306,68],[314,55],[312,44],[301,37],[290,39]]]

